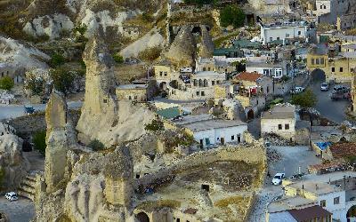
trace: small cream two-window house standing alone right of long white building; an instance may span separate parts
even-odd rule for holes
[[[261,115],[261,135],[274,133],[283,139],[295,141],[295,106],[280,104]]]

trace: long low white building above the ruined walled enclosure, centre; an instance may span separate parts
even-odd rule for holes
[[[244,133],[247,131],[247,123],[212,119],[209,115],[184,116],[183,120],[176,124],[191,131],[202,147],[244,142]]]

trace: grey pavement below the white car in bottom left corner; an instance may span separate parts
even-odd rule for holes
[[[0,197],[0,211],[6,214],[10,222],[28,222],[35,217],[34,203],[22,197],[16,202]]]

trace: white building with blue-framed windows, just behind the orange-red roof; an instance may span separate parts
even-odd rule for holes
[[[246,71],[249,73],[257,72],[261,75],[281,78],[289,75],[289,64],[287,61],[282,62],[251,62],[247,61]]]

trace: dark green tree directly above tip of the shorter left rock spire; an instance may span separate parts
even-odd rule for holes
[[[50,75],[53,80],[54,89],[67,95],[76,78],[75,72],[59,67],[51,69]]]

